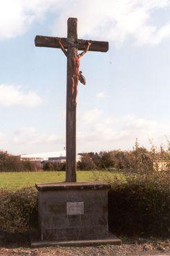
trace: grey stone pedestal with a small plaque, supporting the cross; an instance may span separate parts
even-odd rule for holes
[[[108,235],[110,185],[63,182],[36,184],[36,188],[39,191],[40,244],[50,245],[51,241],[55,241],[55,244],[66,245],[69,241],[76,244],[76,241],[111,240]],[[115,244],[120,243],[117,239]],[[113,241],[108,244],[113,244]]]

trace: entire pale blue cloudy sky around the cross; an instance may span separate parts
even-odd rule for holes
[[[36,35],[109,42],[81,60],[77,153],[159,146],[170,139],[169,0],[1,0],[0,150],[63,150],[66,57],[35,47]]]

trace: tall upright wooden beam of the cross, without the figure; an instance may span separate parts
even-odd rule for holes
[[[77,19],[67,21],[67,37],[77,40]],[[69,50],[69,49],[68,49]],[[70,67],[67,60],[67,92],[66,92],[66,182],[76,182],[76,105],[73,105]]]

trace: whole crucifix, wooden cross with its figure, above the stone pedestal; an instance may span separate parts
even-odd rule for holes
[[[67,37],[37,35],[35,46],[62,49],[67,58],[66,92],[66,182],[76,182],[76,108],[78,81],[86,80],[79,71],[79,60],[87,51],[108,51],[108,42],[77,39],[77,18],[68,18]],[[78,54],[78,50],[82,53]]]

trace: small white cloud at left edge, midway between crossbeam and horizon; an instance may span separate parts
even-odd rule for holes
[[[36,107],[43,102],[43,99],[36,92],[24,92],[23,88],[14,85],[0,85],[0,105],[10,107],[22,105]]]

